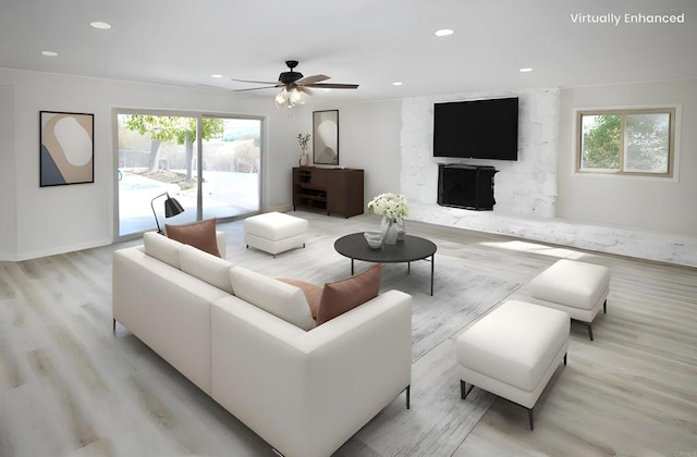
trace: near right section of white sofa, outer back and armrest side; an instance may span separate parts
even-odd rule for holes
[[[409,385],[411,300],[389,291],[309,332],[217,300],[212,397],[285,456],[330,455]]]

